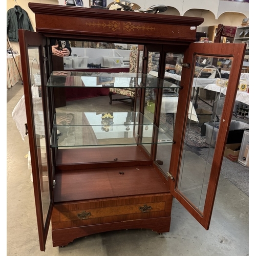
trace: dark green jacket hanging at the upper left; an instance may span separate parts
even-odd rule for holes
[[[18,29],[34,31],[28,13],[16,5],[7,11],[7,36],[9,41],[18,42]]]

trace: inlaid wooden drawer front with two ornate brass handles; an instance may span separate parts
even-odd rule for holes
[[[170,194],[55,204],[52,229],[170,216]]]

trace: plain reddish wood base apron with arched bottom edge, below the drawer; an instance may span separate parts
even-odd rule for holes
[[[157,233],[169,232],[170,217],[151,218],[142,220],[122,221],[105,223],[91,226],[52,230],[53,246],[67,246],[77,238],[89,236],[99,232],[121,230],[121,229],[152,229]]]

